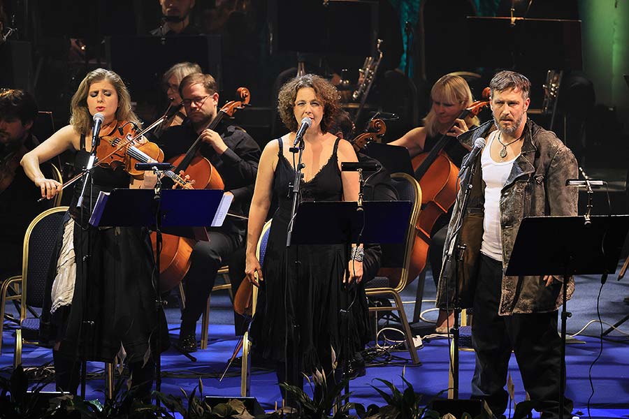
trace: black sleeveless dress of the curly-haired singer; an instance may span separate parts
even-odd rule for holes
[[[338,168],[338,138],[327,163],[309,182],[301,183],[301,201],[342,200],[342,180]],[[292,198],[289,183],[294,169],[282,152],[273,177],[273,196],[278,208],[273,214],[263,261],[263,277],[256,314],[251,326],[253,351],[266,360],[284,362],[300,358],[303,372],[329,369],[331,348],[341,358],[342,346],[349,352],[364,347],[366,316],[354,316],[347,339],[340,310],[347,307],[347,291],[342,279],[347,267],[345,245],[292,245],[287,249],[287,227]],[[295,260],[299,260],[296,269]],[[286,304],[285,304],[286,303]],[[287,335],[287,326],[289,334]],[[286,340],[285,340],[286,339]],[[361,347],[362,346],[362,347]]]

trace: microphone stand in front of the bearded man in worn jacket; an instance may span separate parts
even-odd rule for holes
[[[458,244],[459,234],[461,233],[461,226],[463,225],[463,216],[465,210],[468,207],[468,200],[470,198],[470,192],[472,191],[472,177],[478,166],[476,161],[472,162],[469,168],[465,169],[465,173],[461,177],[461,189],[463,189],[463,198],[460,202],[461,209],[458,211],[456,222],[454,223],[454,233],[450,236],[450,241],[447,243],[446,260],[441,270],[440,281],[446,281],[444,284],[448,284],[449,272],[452,271],[454,258],[459,262],[463,260],[463,254],[465,253],[465,244]],[[458,399],[458,346],[459,346],[459,320],[458,316],[461,314],[461,297],[458,295],[458,281],[456,278],[456,272],[454,274],[454,324],[452,325],[452,339],[454,342],[454,351],[452,354],[452,392],[454,399]]]

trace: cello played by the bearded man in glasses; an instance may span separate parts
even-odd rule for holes
[[[243,109],[249,104],[249,89],[240,87],[238,94],[240,94],[241,101],[230,101],[223,105],[207,129],[214,130],[225,115],[232,117],[236,110]],[[183,171],[190,179],[194,179],[192,182],[194,189],[224,189],[225,184],[219,172],[199,152],[202,142],[201,135],[199,135],[186,154],[176,156],[168,160],[168,163],[175,166],[174,172],[181,173]],[[157,251],[156,233],[151,233],[151,243],[153,251]],[[190,255],[195,244],[196,240],[187,237],[162,235],[159,257],[159,290],[161,292],[175,288],[185,277],[190,269]]]

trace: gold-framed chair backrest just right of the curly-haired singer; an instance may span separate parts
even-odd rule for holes
[[[406,173],[393,173],[393,175],[391,175],[391,181],[398,192],[398,200],[407,200],[413,203],[410,218],[406,225],[404,242],[382,245],[382,268],[385,268],[386,272],[389,273],[388,276],[391,288],[399,293],[414,279],[408,276],[416,237],[415,226],[419,212],[421,212],[421,188],[419,187],[417,179],[414,179],[414,177]],[[389,268],[393,268],[393,270]],[[395,274],[391,275],[391,272],[395,272]]]

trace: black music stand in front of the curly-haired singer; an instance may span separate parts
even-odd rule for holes
[[[356,201],[303,202],[295,214],[291,244],[400,243],[405,240],[412,207],[410,201],[363,201],[361,210]],[[349,328],[349,310],[345,313]],[[347,344],[345,351],[344,374],[349,366]],[[345,395],[349,402],[349,381]]]

